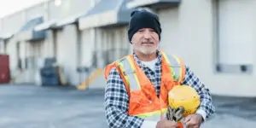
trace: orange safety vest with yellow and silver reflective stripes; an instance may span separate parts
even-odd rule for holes
[[[133,55],[126,55],[119,61],[114,61],[105,68],[105,79],[113,67],[125,83],[129,96],[128,114],[139,118],[159,121],[165,115],[168,107],[168,92],[173,86],[179,85],[184,79],[185,67],[183,61],[175,55],[163,55],[160,81],[160,97],[157,96],[154,84],[148,79],[143,70],[137,66]],[[183,128],[181,122],[178,123]]]

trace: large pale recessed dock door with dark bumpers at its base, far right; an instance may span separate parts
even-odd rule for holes
[[[254,0],[218,0],[218,64],[220,73],[253,72]]]

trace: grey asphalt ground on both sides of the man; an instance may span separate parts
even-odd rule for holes
[[[256,127],[256,98],[213,96],[201,128]],[[104,90],[0,84],[1,128],[108,128]]]

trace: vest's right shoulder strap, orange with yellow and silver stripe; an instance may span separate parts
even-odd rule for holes
[[[160,52],[163,55],[163,59],[166,60],[170,68],[170,71],[172,73],[172,79],[180,84],[185,76],[185,66],[183,64],[183,61],[176,55],[167,55],[163,51]]]

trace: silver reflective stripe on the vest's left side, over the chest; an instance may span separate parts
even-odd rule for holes
[[[131,91],[132,90],[140,90],[140,85],[137,83],[137,79],[135,77],[136,70],[132,69],[132,66],[131,66],[131,63],[128,60],[128,57],[130,57],[130,56],[127,56],[127,57],[125,57],[124,59],[122,59],[120,61],[123,64],[123,67],[124,67],[123,73],[128,78],[127,81],[129,83],[130,90]]]

